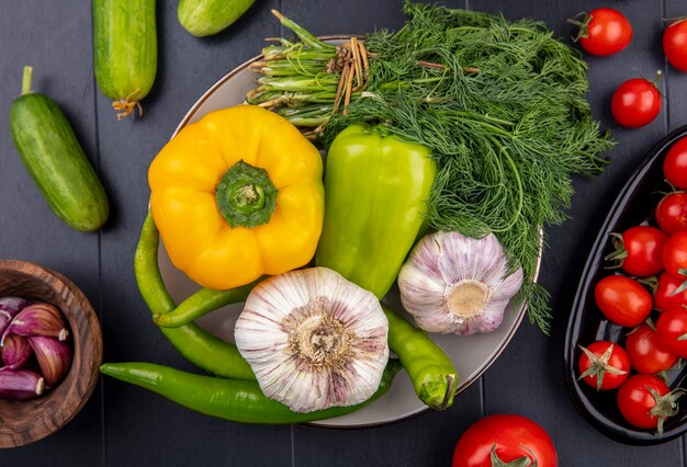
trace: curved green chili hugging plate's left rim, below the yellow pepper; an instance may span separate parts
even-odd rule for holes
[[[162,315],[172,311],[176,305],[160,275],[157,263],[158,244],[159,232],[153,216],[148,213],[136,248],[134,270],[138,289],[150,311]],[[216,292],[216,294],[212,294],[212,292]],[[202,296],[207,303],[216,304],[216,297],[222,293],[212,292],[205,292]],[[228,294],[222,296],[226,299]],[[160,331],[187,360],[199,368],[225,378],[256,379],[252,369],[238,353],[236,345],[214,337],[198,324],[188,323],[179,328],[160,328]]]

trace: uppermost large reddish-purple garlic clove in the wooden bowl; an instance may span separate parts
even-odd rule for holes
[[[50,304],[33,304],[21,310],[4,331],[2,340],[10,333],[25,337],[43,335],[60,341],[69,335],[65,317]]]

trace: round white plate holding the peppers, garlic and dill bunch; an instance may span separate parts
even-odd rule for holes
[[[339,42],[341,37],[326,37],[326,39]],[[238,66],[210,88],[183,117],[177,132],[189,123],[201,119],[209,112],[243,103],[246,93],[255,88],[255,79],[257,77],[256,73],[248,70],[248,65],[258,59],[260,57]],[[198,284],[189,280],[171,264],[164,248],[159,249],[159,264],[167,288],[177,303],[200,288]],[[537,264],[534,280],[537,280],[538,275],[539,263]],[[398,305],[397,291],[390,292],[388,296],[385,297],[385,301],[393,305],[393,308],[396,310],[402,309]],[[234,323],[240,310],[240,305],[227,306],[199,319],[198,323],[218,338],[233,342]],[[477,380],[482,373],[504,351],[522,321],[525,310],[526,306],[517,310],[506,310],[500,327],[488,334],[468,337],[431,335],[432,340],[451,357],[458,371],[460,378],[459,394]],[[406,318],[409,317],[406,315]],[[373,426],[402,420],[425,410],[428,410],[427,407],[417,398],[409,378],[405,372],[402,372],[394,379],[391,390],[374,403],[348,415],[323,420],[312,424],[328,428]]]

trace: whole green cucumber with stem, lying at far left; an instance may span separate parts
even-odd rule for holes
[[[10,107],[14,147],[50,209],[71,228],[97,230],[110,214],[105,191],[59,106],[31,91],[31,71]]]

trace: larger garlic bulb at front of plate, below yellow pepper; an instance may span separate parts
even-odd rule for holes
[[[235,340],[267,397],[309,412],[372,396],[388,360],[387,331],[371,292],[312,267],[256,286]]]

